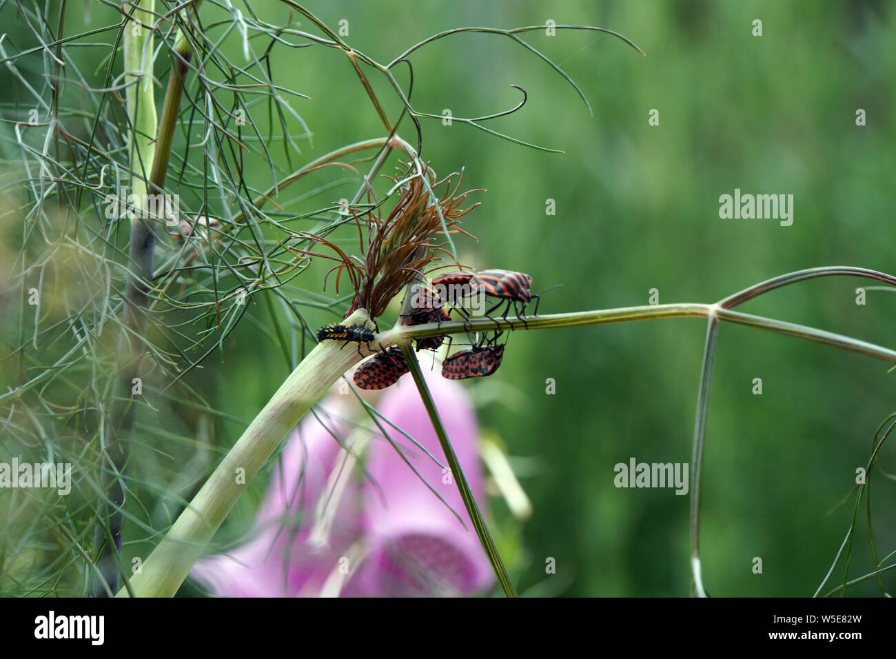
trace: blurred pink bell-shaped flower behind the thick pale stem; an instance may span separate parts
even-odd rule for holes
[[[470,487],[483,504],[478,426],[462,386],[426,372],[426,382]],[[309,414],[294,431],[259,507],[252,539],[199,561],[193,577],[211,594],[266,596],[461,595],[494,582],[452,474],[381,420],[432,490],[420,481],[348,395],[330,395],[329,413]],[[385,391],[378,412],[447,464],[410,377]],[[325,426],[322,424],[325,424]],[[334,437],[335,436],[335,437]],[[366,445],[363,470],[353,452]]]

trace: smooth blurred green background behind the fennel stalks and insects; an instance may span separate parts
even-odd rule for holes
[[[274,0],[253,6],[269,22],[287,20]],[[593,32],[528,35],[580,84],[593,116],[567,82],[511,39],[461,34],[411,58],[418,110],[487,115],[513,107],[520,94],[509,85],[520,85],[529,93],[526,106],[487,126],[564,151],[538,152],[459,122],[423,120],[423,155],[433,168],[444,174],[463,167],[465,186],[487,189],[463,223],[478,242],[458,240],[461,260],[530,273],[534,290],[563,284],[544,295],[541,313],[647,304],[654,288],[661,303],[711,302],[819,265],[896,271],[896,4],[381,0],[309,8],[334,28],[348,20],[345,39],[381,62],[440,30],[548,19],[619,31],[646,52]],[[94,7],[94,20],[105,11]],[[755,19],[761,37],[752,34]],[[78,20],[72,30],[82,29]],[[239,59],[239,39],[222,48]],[[294,165],[382,134],[338,51],[274,52],[276,82],[311,97],[292,101],[314,138],[293,154]],[[375,80],[394,117],[398,103]],[[648,123],[651,108],[659,110],[659,126]],[[866,126],[856,125],[858,108]],[[409,123],[401,133],[416,142]],[[178,139],[176,150],[183,147]],[[272,153],[286,169],[282,150]],[[250,168],[248,178],[264,187],[266,175],[264,167]],[[325,179],[309,178],[307,189]],[[306,208],[350,197],[358,181],[316,195]],[[719,195],[735,188],[794,195],[793,225],[719,219]],[[547,199],[555,200],[556,215],[546,214]],[[320,290],[323,270],[315,266],[299,285]],[[804,282],[741,310],[894,345],[888,327],[896,296],[869,291],[858,306],[860,285],[852,278]],[[245,420],[289,372],[280,348],[259,340],[266,308],[256,300],[250,313],[257,320],[243,322],[226,350],[191,376],[215,406]],[[309,314],[320,324],[334,317]],[[520,522],[501,499],[490,499],[521,593],[688,594],[688,497],[618,490],[614,465],[630,457],[691,462],[704,333],[700,319],[518,332],[495,377],[466,385],[481,403],[483,429],[520,458],[514,464],[532,501],[532,516]],[[721,326],[703,476],[703,576],[711,594],[814,592],[853,504],[831,509],[849,493],[874,430],[896,403],[896,375],[887,369],[816,343]],[[556,379],[555,395],[546,395],[548,377]],[[762,395],[752,393],[755,377]],[[177,424],[174,417],[166,422]],[[216,442],[232,445],[243,428],[220,421]],[[885,448],[883,464],[896,472],[893,462]],[[263,482],[240,502],[222,537],[246,530]],[[896,548],[896,486],[879,476],[875,482],[880,557]],[[145,547],[127,550],[145,555]],[[556,575],[545,574],[548,557],[556,559]],[[761,575],[753,573],[754,557],[762,558]],[[863,527],[850,576],[870,569]],[[891,593],[894,578],[883,579]],[[849,594],[879,590],[870,580]]]

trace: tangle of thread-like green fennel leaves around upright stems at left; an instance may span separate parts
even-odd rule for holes
[[[66,496],[13,493],[2,520],[9,541],[0,593],[84,594],[93,581],[109,594],[94,565],[98,545],[115,542],[121,521],[125,545],[154,543],[165,532],[214,462],[214,429],[236,421],[197,367],[213,355],[225,358],[228,336],[245,321],[295,364],[313,344],[307,310],[345,308],[344,297],[316,291],[316,278],[297,286],[311,264],[307,247],[326,236],[341,239],[347,217],[369,221],[391,200],[408,235],[414,218],[430,218],[420,247],[452,229],[463,195],[440,203],[416,160],[418,117],[426,113],[410,104],[410,79],[402,87],[392,69],[410,71],[418,48],[468,29],[436,35],[380,65],[303,7],[286,4],[317,33],[297,30],[297,14],[275,24],[251,5],[209,0],[0,9],[21,28],[0,40],[0,82],[10,90],[0,132],[8,256],[0,259],[0,457],[72,464],[74,483]],[[475,31],[525,46],[517,35],[532,29]],[[312,132],[293,101],[308,97],[278,82],[271,56],[296,49],[311,65],[308,47],[348,56],[385,133],[358,135],[296,166],[306,160]],[[397,116],[389,117],[365,69],[392,87]],[[506,114],[456,120],[479,126]],[[416,149],[394,134],[402,117],[417,124]],[[410,176],[375,192],[382,187],[375,176],[396,148],[415,163]],[[352,160],[364,152],[375,159]],[[365,162],[366,182],[349,204],[334,204],[340,188],[357,185]],[[396,196],[409,190],[416,214],[401,210]],[[452,238],[443,240],[452,253]],[[383,247],[384,258],[393,256]],[[413,256],[416,243],[405,248],[400,269],[412,275],[423,263]],[[403,282],[380,284],[382,311]],[[256,299],[268,313],[254,310]],[[113,447],[119,456],[104,460]],[[107,508],[123,519],[109,525]],[[133,566],[114,553],[112,569],[129,588]]]

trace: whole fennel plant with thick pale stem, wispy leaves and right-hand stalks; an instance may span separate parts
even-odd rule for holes
[[[94,529],[99,528],[99,542],[103,538],[115,542],[116,531],[103,512],[117,509],[109,488],[115,482],[123,484],[125,493],[125,549],[109,556],[113,568],[124,577],[123,593],[173,594],[190,561],[211,541],[231,507],[244,506],[249,512],[244,511],[243,519],[251,515],[259,491],[249,486],[243,494],[243,489],[232,487],[227,482],[228,468],[251,455],[253,473],[263,473],[276,457],[285,429],[271,414],[271,403],[265,405],[271,394],[302,364],[294,375],[316,379],[314,388],[286,380],[292,396],[289,411],[298,416],[313,407],[313,394],[319,395],[355,357],[359,359],[359,355],[351,359],[341,355],[325,364],[303,362],[314,347],[314,328],[322,318],[340,318],[361,306],[370,307],[375,316],[389,316],[400,301],[401,289],[428,263],[418,249],[443,249],[452,261],[460,260],[461,250],[467,249],[455,245],[449,233],[459,215],[453,202],[462,195],[446,199],[428,169],[431,163],[433,169],[442,170],[436,155],[444,154],[437,154],[426,139],[440,126],[425,119],[444,120],[444,115],[425,111],[425,107],[432,109],[429,104],[414,100],[418,57],[431,44],[450,48],[454,41],[468,37],[499,37],[519,56],[529,56],[525,61],[559,75],[562,85],[571,85],[565,91],[584,101],[583,110],[591,105],[567,73],[567,61],[558,63],[546,55],[548,48],[534,45],[537,32],[547,25],[453,28],[399,46],[384,40],[377,50],[392,51],[392,58],[381,60],[289,0],[257,6],[214,0],[202,4],[156,0],[154,5],[102,2],[86,8],[68,3],[6,3],[0,5],[0,22],[12,26],[4,27],[0,37],[0,89],[4,90],[0,99],[0,462],[18,458],[73,467],[72,490],[65,495],[50,488],[0,491],[0,595],[82,595],[90,592],[91,582],[108,583],[97,566]],[[634,47],[610,30],[550,27],[608,34]],[[631,54],[630,49],[625,51]],[[285,70],[280,58],[284,52],[289,53],[290,70]],[[296,72],[313,71],[336,57],[348,66],[333,76],[326,94],[312,98],[304,82],[297,82],[303,78]],[[495,136],[510,144],[491,143],[560,152],[559,147],[569,143],[569,135],[556,117],[542,121],[544,134],[531,137],[491,127],[508,125],[509,116],[521,116],[514,113],[531,109],[526,106],[538,99],[513,80],[502,81],[501,86],[505,83],[521,93],[515,106],[480,116],[455,116],[452,122],[462,125],[467,135]],[[175,94],[172,88],[178,86]],[[604,98],[610,95],[609,89],[602,84]],[[358,92],[365,102],[356,105],[351,92]],[[358,117],[350,126],[335,118],[349,105],[347,98],[352,99],[350,111]],[[146,111],[135,112],[141,104]],[[332,113],[329,123],[306,123],[307,108]],[[599,113],[607,111],[598,104],[594,108]],[[153,115],[158,122],[152,120]],[[573,135],[576,140],[586,137]],[[322,143],[322,151],[328,151],[317,155],[314,149]],[[481,152],[477,154],[482,157],[471,160],[487,161]],[[409,167],[402,164],[407,162]],[[617,163],[594,165],[605,173],[601,168],[611,166],[616,168]],[[446,171],[455,169],[446,167]],[[381,176],[390,168],[401,172],[399,183]],[[551,168],[565,171],[556,160]],[[577,174],[579,178],[558,176],[567,187],[595,180],[594,172]],[[650,172],[639,171],[639,175],[649,177]],[[549,178],[546,172],[544,179]],[[501,183],[522,195],[519,182],[504,179]],[[585,186],[590,188],[591,183]],[[176,213],[166,217],[170,209],[164,204],[149,212],[145,199],[128,197],[144,192],[176,199]],[[533,194],[542,193],[539,189]],[[647,195],[638,192],[632,197],[642,200]],[[585,211],[589,221],[593,208],[590,199]],[[134,221],[128,210],[147,215]],[[599,211],[604,211],[602,203]],[[396,212],[404,221],[401,235],[394,238],[396,244],[381,240],[371,252],[374,241],[369,238],[388,238],[375,230],[383,218],[394,219]],[[569,263],[582,261],[582,267],[588,268],[587,276],[581,277],[583,286],[591,287],[599,279],[593,264],[596,256],[590,251],[582,256],[567,244],[575,241],[568,227],[540,228],[538,250],[520,247],[514,242],[524,223],[518,215],[522,213],[499,207],[493,217],[504,222],[500,233],[495,238],[495,227],[484,222],[486,235],[492,239],[478,249],[484,254],[498,253],[499,238],[512,246],[507,249],[520,254],[538,253],[539,259],[547,261],[563,260],[557,255],[569,256]],[[420,236],[411,220],[425,225]],[[479,234],[476,224],[467,226]],[[371,230],[366,240],[363,229]],[[551,251],[552,241],[561,239],[562,249]],[[620,239],[609,235],[600,241],[615,245],[613,241]],[[582,245],[591,240],[589,233]],[[358,274],[352,290],[322,290],[324,275],[332,266],[328,258],[314,256],[322,244],[334,247],[340,264]],[[396,255],[401,256],[399,267],[381,268],[385,259]],[[639,271],[645,258],[641,251],[634,254],[632,261],[639,264]],[[376,279],[374,275],[364,281],[367,273],[381,270],[401,276]],[[715,305],[558,314],[530,320],[529,326],[534,330],[650,318],[710,319],[694,429],[691,528],[696,556],[702,448],[704,438],[711,435],[707,429],[709,387],[719,323],[761,328],[892,361],[896,353],[873,343],[731,309],[784,283],[858,271],[827,268],[792,273]],[[862,272],[861,276],[892,283],[889,275]],[[145,299],[135,302],[135,294]],[[580,299],[575,303],[580,304]],[[497,324],[508,330],[520,325],[513,320]],[[387,344],[404,343],[419,336],[463,334],[493,326],[493,321],[480,319],[442,327],[396,327],[381,338]],[[257,354],[247,341],[275,346],[282,362],[247,357]],[[583,352],[586,347],[577,350]],[[264,372],[263,391],[250,390],[227,369],[240,360],[250,360],[248,368]],[[590,374],[589,382],[593,379]],[[267,412],[256,417],[260,409]],[[367,410],[375,417],[372,408]],[[438,427],[437,413],[432,413]],[[869,470],[891,429],[892,425],[883,435],[879,431]],[[103,459],[103,438],[109,433],[126,442],[123,464]],[[237,437],[241,437],[237,449],[228,451]],[[570,464],[576,461],[577,457],[571,458]],[[409,470],[412,477],[416,476]],[[849,564],[852,558],[857,514],[864,501],[874,566],[866,575],[852,578],[844,568],[840,585],[829,594],[844,593],[849,586],[874,577],[883,591],[881,576],[892,568],[888,563],[892,551],[889,547],[879,550],[871,535],[868,485],[855,491],[855,515],[836,559]],[[190,502],[207,517],[181,516]],[[482,516],[475,513],[470,510],[475,530],[505,592],[513,593],[516,575],[504,568]],[[237,533],[238,524],[223,529],[216,546],[226,546]],[[182,553],[178,542],[195,546]],[[159,552],[150,562],[153,548]],[[143,562],[149,568],[138,571],[142,577],[132,584],[130,577]],[[835,561],[819,594],[836,566]],[[113,589],[108,587],[107,594]]]

